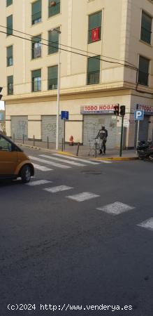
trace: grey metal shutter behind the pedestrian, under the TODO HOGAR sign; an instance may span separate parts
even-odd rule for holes
[[[111,114],[84,115],[83,145],[89,145],[89,140],[96,137],[101,125],[108,130],[107,148],[117,147],[117,119],[112,119]]]

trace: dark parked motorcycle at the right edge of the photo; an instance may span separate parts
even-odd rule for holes
[[[153,162],[153,142],[142,141],[136,150],[139,159],[150,159]]]

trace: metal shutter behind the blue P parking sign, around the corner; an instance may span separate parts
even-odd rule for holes
[[[148,136],[148,129],[149,129],[149,115],[145,115],[143,121],[140,121],[139,126],[139,141],[147,141]],[[137,138],[137,131],[138,131],[138,121],[136,121],[136,131],[135,131],[135,147],[136,147],[136,138]]]

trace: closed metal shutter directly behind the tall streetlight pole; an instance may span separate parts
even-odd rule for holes
[[[41,133],[43,142],[47,142],[49,138],[50,143],[56,143],[57,135],[57,116],[44,115],[42,116]],[[64,137],[64,120],[59,117],[59,143]]]

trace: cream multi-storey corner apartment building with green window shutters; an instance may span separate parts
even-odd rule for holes
[[[60,113],[66,141],[88,145],[101,124],[118,147],[125,105],[124,147],[134,147],[133,112],[145,110],[140,140],[153,137],[151,0],[0,0],[0,86],[6,133],[55,143],[60,55]],[[60,42],[59,42],[60,39]],[[59,119],[59,140],[64,121]]]

